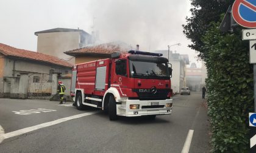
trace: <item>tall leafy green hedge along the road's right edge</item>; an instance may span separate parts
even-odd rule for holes
[[[223,34],[213,23],[202,39],[208,78],[212,152],[248,152],[248,113],[254,111],[253,69],[241,29]]]

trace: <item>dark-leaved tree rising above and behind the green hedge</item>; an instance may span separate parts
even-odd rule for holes
[[[199,52],[199,57],[204,59],[204,43],[202,36],[210,28],[210,22],[219,21],[221,14],[225,13],[232,1],[217,0],[191,0],[192,9],[190,9],[191,17],[186,18],[187,24],[183,26],[183,33],[191,40],[189,45],[191,49]]]

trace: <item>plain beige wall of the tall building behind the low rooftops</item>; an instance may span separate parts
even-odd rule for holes
[[[69,63],[74,64],[73,56],[63,52],[79,49],[79,44],[80,32],[38,33],[37,52],[69,60]],[[71,58],[72,60],[70,60]]]

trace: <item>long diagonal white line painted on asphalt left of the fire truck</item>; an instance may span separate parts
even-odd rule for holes
[[[96,113],[98,113],[98,111],[96,111],[96,112],[87,112],[87,113],[78,114],[78,115],[73,115],[71,117],[60,118],[58,120],[49,121],[49,122],[46,122],[46,123],[38,124],[36,126],[26,127],[24,129],[20,129],[20,130],[17,130],[17,131],[13,131],[13,132],[9,132],[7,134],[4,134],[4,138],[15,137],[17,135],[26,134],[27,132],[35,131],[35,130],[41,129],[43,127],[52,126],[52,125],[55,125],[55,124],[62,123],[64,121],[74,120],[76,118],[85,117],[85,116],[93,115],[93,114],[96,114]]]

